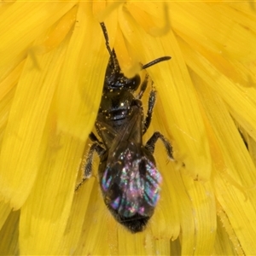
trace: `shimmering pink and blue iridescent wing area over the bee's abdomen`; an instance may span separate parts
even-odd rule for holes
[[[126,150],[119,161],[107,166],[101,183],[103,195],[108,199],[108,207],[120,216],[149,217],[160,197],[162,177],[153,162],[145,156],[133,159],[132,154],[132,150]]]

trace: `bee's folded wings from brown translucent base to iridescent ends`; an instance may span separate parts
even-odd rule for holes
[[[142,146],[142,112],[133,111],[128,125],[109,148],[102,190],[108,207],[120,216],[151,216],[160,195],[161,175]]]

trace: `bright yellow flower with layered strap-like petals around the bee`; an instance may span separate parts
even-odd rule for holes
[[[16,1],[0,17],[1,254],[256,253],[253,3]],[[143,141],[161,131],[176,161],[156,145],[160,201],[137,234],[104,205],[98,160],[74,193],[108,65],[102,21],[126,75],[172,55],[147,70]]]

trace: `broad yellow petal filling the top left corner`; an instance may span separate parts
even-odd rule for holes
[[[9,70],[26,57],[32,42],[61,18],[75,2],[49,3],[15,2],[1,16],[1,60],[2,80]],[[26,14],[26,15],[24,15]]]

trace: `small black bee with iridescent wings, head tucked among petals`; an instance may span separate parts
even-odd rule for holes
[[[156,168],[154,146],[158,139],[166,148],[170,159],[172,145],[159,131],[143,144],[143,134],[152,119],[156,91],[151,90],[148,112],[144,119],[141,98],[148,85],[148,75],[137,96],[141,84],[138,74],[128,79],[121,72],[114,49],[108,43],[108,32],[100,23],[110,55],[105,73],[102,102],[96,118],[96,131],[101,141],[91,132],[90,146],[84,167],[84,178],[76,190],[90,177],[93,155],[100,157],[98,168],[103,200],[113,217],[132,233],[143,231],[160,197],[162,177]],[[170,60],[164,56],[143,65],[142,69],[160,61]]]

